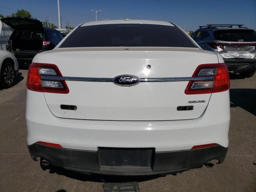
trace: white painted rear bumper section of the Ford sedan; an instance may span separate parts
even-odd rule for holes
[[[198,96],[200,99],[200,96]],[[197,104],[194,104],[195,107]],[[156,152],[189,150],[217,143],[228,147],[229,91],[214,93],[196,119],[174,121],[104,121],[58,118],[42,92],[28,90],[27,141],[60,144],[63,148],[97,151],[98,147],[155,148]]]

